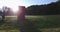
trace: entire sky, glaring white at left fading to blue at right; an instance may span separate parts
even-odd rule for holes
[[[0,8],[7,6],[12,8],[14,11],[18,10],[18,6],[30,6],[30,5],[41,5],[56,2],[57,0],[0,0]]]

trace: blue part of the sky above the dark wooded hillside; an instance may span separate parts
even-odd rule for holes
[[[22,0],[25,4],[29,5],[41,5],[41,4],[48,4],[51,2],[56,2],[57,0]]]

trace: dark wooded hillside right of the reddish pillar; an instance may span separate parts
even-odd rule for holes
[[[59,15],[60,1],[44,5],[31,5],[26,8],[26,15]]]

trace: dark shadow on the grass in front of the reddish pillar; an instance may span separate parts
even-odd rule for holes
[[[21,32],[41,32],[34,21],[25,20],[24,26],[20,27]]]

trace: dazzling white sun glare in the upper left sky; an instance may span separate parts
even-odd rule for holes
[[[19,6],[28,6],[24,0],[2,0],[0,8],[4,5],[11,8],[14,13],[18,12]]]

